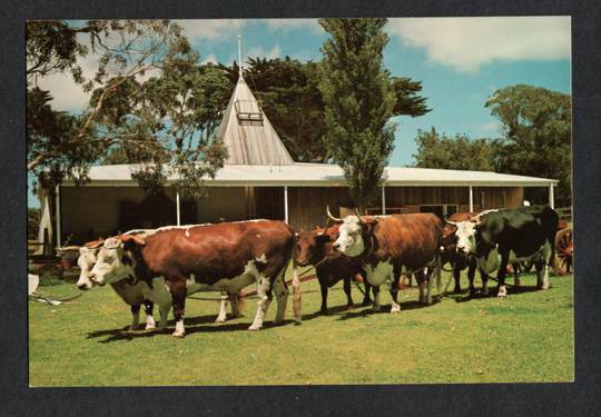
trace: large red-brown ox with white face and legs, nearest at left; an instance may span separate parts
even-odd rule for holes
[[[150,288],[166,288],[176,319],[174,337],[185,336],[184,310],[188,291],[237,294],[256,284],[258,309],[249,329],[258,330],[272,301],[272,290],[278,302],[275,321],[284,320],[288,296],[284,274],[293,250],[294,231],[282,221],[164,227],[144,236],[122,235],[107,239],[89,278],[104,285],[135,274]],[[295,316],[299,319],[296,274],[293,286],[297,295]]]

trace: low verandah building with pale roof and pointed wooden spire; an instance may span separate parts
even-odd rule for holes
[[[254,218],[311,229],[325,222],[326,205],[339,216],[353,206],[338,166],[292,159],[242,75],[217,135],[229,157],[215,179],[206,180],[207,197],[184,199],[171,187],[161,196],[149,196],[131,178],[136,165],[92,167],[91,181],[85,187],[70,181],[60,186],[55,236],[60,242],[67,236],[82,242],[136,228]],[[428,211],[444,218],[457,211],[519,207],[524,187],[548,188],[553,206],[558,182],[496,172],[397,167],[386,168],[385,178],[381,199],[367,209],[370,214]]]

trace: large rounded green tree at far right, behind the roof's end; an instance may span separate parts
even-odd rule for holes
[[[502,123],[499,150],[503,172],[555,178],[558,205],[571,203],[571,97],[525,85],[496,90],[485,105]],[[528,190],[535,201],[546,190]]]

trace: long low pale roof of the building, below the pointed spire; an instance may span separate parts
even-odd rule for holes
[[[92,167],[89,172],[91,186],[135,183],[131,172],[136,165],[111,165]],[[522,186],[545,187],[558,180],[514,176],[487,171],[462,171],[430,168],[386,168],[387,186]],[[170,178],[171,180],[174,178]],[[66,185],[68,185],[67,182]],[[344,173],[337,165],[299,163],[283,166],[226,165],[217,171],[207,186],[297,186],[328,187],[345,186]]]

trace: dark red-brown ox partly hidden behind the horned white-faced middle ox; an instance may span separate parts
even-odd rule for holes
[[[334,241],[338,237],[339,225],[334,225],[322,229],[319,227],[311,231],[299,231],[296,239],[296,264],[298,266],[313,265],[315,274],[322,289],[322,308],[319,312],[327,315],[327,291],[341,279],[343,280],[344,292],[346,294],[347,308],[354,307],[351,296],[351,281],[358,274],[363,278],[365,286],[365,297],[363,306],[371,304],[370,290],[372,286],[367,282],[365,270],[357,258],[349,258],[335,251]],[[380,291],[378,287],[373,287],[374,294]]]

